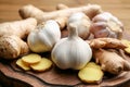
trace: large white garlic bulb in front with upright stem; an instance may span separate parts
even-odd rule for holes
[[[60,69],[82,69],[92,58],[90,46],[79,36],[74,24],[69,24],[69,35],[54,46],[51,57]]]

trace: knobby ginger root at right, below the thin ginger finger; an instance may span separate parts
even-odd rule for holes
[[[93,58],[101,64],[103,71],[110,74],[130,71],[130,63],[114,51],[98,49],[93,51]]]

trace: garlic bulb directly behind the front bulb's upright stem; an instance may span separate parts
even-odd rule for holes
[[[82,39],[87,39],[89,37],[91,21],[84,13],[78,12],[70,15],[67,24],[69,25],[70,23],[73,23],[78,29],[79,37]]]

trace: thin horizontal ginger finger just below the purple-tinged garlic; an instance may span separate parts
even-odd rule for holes
[[[115,49],[125,49],[126,45],[115,38],[95,38],[87,41],[91,48],[99,49],[99,48],[115,48]]]

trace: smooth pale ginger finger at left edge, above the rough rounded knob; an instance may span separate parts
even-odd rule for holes
[[[37,21],[35,18],[1,23],[0,37],[3,35],[16,35],[20,38],[26,38],[36,26]]]

